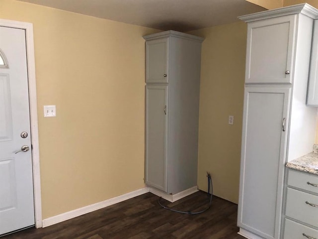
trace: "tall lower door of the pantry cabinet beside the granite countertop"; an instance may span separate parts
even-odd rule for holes
[[[246,87],[238,225],[279,239],[290,88]]]

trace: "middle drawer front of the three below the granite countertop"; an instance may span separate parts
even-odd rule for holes
[[[287,188],[286,216],[318,227],[318,196]]]

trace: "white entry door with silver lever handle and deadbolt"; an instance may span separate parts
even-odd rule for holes
[[[0,27],[0,56],[0,235],[2,235],[34,225],[25,30]]]

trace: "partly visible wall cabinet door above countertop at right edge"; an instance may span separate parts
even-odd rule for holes
[[[307,105],[318,106],[318,20],[314,23]]]

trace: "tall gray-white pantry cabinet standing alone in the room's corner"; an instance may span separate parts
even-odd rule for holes
[[[146,176],[176,194],[197,186],[201,43],[164,31],[146,39]]]

